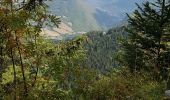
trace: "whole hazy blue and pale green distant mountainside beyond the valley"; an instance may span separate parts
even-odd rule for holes
[[[135,2],[146,0],[53,0],[48,3],[53,14],[62,16],[74,31],[109,29],[131,13]]]

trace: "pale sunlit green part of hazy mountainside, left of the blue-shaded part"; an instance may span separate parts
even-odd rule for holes
[[[52,13],[64,16],[65,23],[70,22],[75,31],[100,29],[92,15],[92,8],[83,0],[56,0],[49,3]]]

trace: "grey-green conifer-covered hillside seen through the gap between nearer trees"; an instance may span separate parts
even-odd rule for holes
[[[108,32],[89,32],[87,34],[88,41],[85,42],[87,65],[104,73],[113,67],[117,67],[118,63],[114,60],[114,57],[116,57],[120,48],[119,41],[126,34],[124,27],[113,28]]]

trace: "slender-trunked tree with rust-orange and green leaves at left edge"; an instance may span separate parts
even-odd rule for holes
[[[14,87],[12,88],[15,92],[14,99],[16,99],[17,86],[23,87],[24,96],[28,95],[29,84],[26,72],[32,68],[32,65],[35,65],[37,69],[32,82],[33,86],[36,81],[43,56],[43,53],[37,53],[41,28],[45,22],[49,21],[55,25],[59,24],[59,18],[47,12],[42,0],[0,1],[0,84],[2,85],[2,73],[12,65],[13,82],[10,86]],[[17,66],[21,69],[22,81],[17,77]]]

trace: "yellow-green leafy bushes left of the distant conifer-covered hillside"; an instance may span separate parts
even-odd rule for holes
[[[54,93],[61,89],[69,93],[63,97],[79,98],[80,95],[85,95],[87,86],[93,81],[95,75],[95,71],[85,65],[85,51],[82,47],[85,39],[85,37],[76,38],[56,46],[56,55],[45,73],[52,80],[57,81]],[[55,98],[59,97],[55,95]]]

